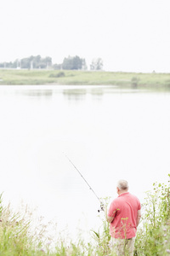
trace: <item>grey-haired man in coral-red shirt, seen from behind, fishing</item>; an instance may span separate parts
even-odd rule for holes
[[[140,202],[128,192],[126,180],[117,183],[116,191],[118,197],[111,202],[107,212],[110,233],[116,245],[116,254],[133,256],[136,231],[141,217]]]

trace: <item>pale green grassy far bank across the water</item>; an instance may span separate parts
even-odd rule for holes
[[[170,73],[0,69],[0,84],[111,84],[133,88],[170,88]]]

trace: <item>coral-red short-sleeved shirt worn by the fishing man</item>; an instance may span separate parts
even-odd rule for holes
[[[139,199],[135,195],[129,192],[118,195],[108,211],[108,216],[114,217],[110,224],[111,236],[122,239],[136,236],[136,220],[140,208]]]

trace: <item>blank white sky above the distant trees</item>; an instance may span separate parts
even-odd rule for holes
[[[68,55],[105,70],[170,73],[169,0],[1,0],[0,62]]]

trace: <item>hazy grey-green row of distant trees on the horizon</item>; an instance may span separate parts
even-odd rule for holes
[[[52,58],[47,56],[42,58],[41,55],[17,59],[14,62],[1,62],[0,68],[26,68],[26,69],[48,69],[53,68],[56,70],[65,69],[65,70],[87,70],[88,66],[86,64],[86,60],[80,58],[79,56],[68,56],[66,57],[62,63],[60,64],[53,64]],[[101,58],[93,59],[92,63],[90,64],[91,70],[101,70],[103,68],[103,61]]]

